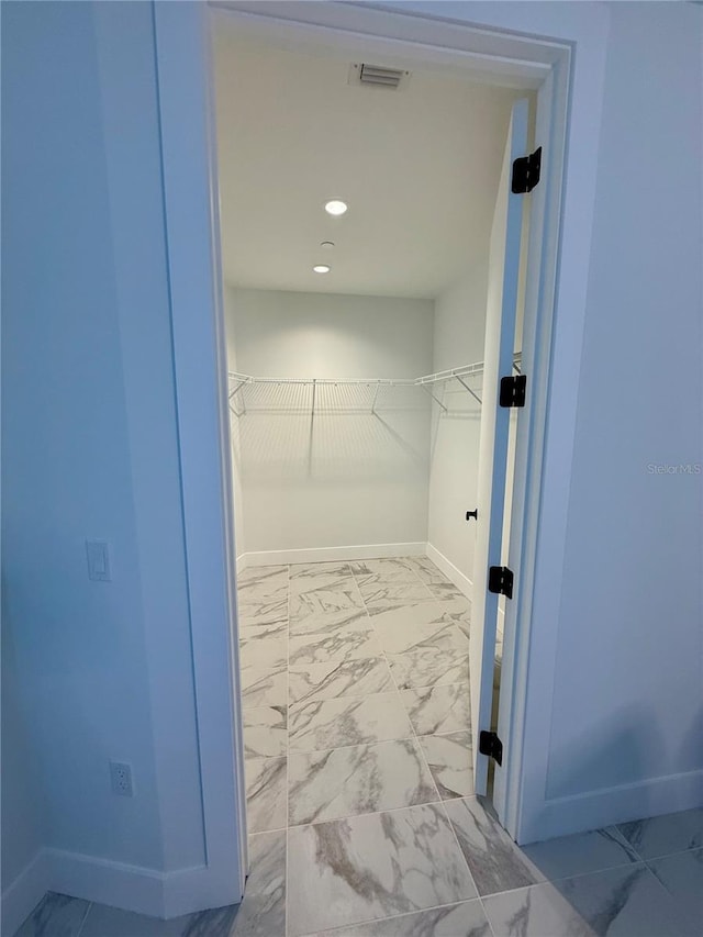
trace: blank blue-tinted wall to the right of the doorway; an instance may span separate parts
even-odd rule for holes
[[[635,812],[703,790],[702,13],[611,8],[561,582],[548,795]]]

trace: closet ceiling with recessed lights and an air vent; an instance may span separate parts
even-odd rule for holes
[[[353,60],[264,45],[220,21],[227,282],[435,298],[486,256],[517,92],[412,66],[402,90],[354,86]],[[324,212],[331,198],[346,215]],[[332,272],[313,274],[319,263]]]

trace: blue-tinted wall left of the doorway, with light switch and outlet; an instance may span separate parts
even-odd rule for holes
[[[152,913],[204,849],[150,8],[3,5],[2,88],[11,933],[40,844],[44,886]]]

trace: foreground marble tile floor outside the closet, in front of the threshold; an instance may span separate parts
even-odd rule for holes
[[[633,828],[678,851],[645,859]],[[157,921],[49,893],[15,937],[700,937],[702,830],[685,811],[521,849],[455,799],[254,834],[241,905]]]

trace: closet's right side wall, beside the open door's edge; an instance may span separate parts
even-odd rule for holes
[[[488,253],[437,298],[433,370],[483,360],[487,275]],[[469,384],[480,398],[481,380]],[[447,413],[433,406],[428,543],[472,580],[476,523],[466,512],[478,497],[481,406],[458,381],[445,384],[442,400]]]

